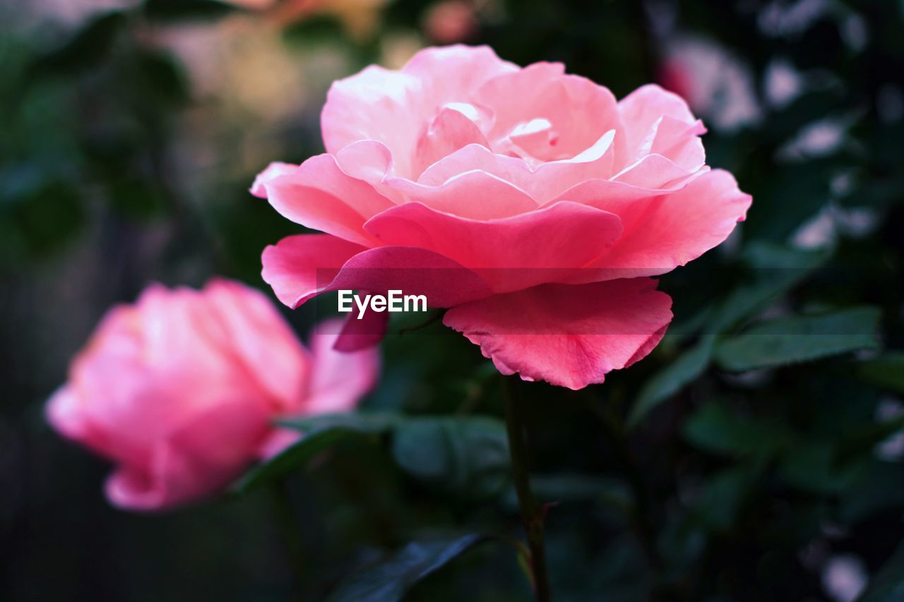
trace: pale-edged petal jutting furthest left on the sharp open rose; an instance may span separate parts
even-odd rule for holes
[[[364,221],[393,204],[370,184],[345,174],[332,155],[312,156],[294,171],[278,172],[259,176],[274,209],[307,228],[365,246],[372,240],[362,230]]]

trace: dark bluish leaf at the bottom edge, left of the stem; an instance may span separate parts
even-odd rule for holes
[[[339,586],[329,602],[396,602],[418,581],[485,541],[477,534],[456,539],[412,541],[387,559],[366,567]]]

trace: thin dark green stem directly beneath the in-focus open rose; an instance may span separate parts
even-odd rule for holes
[[[550,579],[546,571],[546,550],[543,546],[543,508],[533,497],[530,474],[527,468],[527,450],[524,444],[524,425],[520,401],[517,399],[518,382],[514,378],[503,379],[505,428],[508,432],[509,453],[512,456],[512,476],[521,520],[531,550],[530,568],[533,594],[537,602],[550,602]]]

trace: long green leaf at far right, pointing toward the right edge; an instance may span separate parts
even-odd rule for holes
[[[722,341],[716,361],[726,370],[743,372],[876,349],[879,319],[879,308],[864,306],[775,320]]]

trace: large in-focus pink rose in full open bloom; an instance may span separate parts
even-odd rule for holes
[[[487,47],[337,81],[321,125],[324,155],[269,165],[251,189],[325,232],[264,250],[279,299],[426,295],[500,372],[571,389],[653,349],[672,313],[649,277],[718,245],[750,205],[705,165],[683,99],[651,85],[617,101]],[[385,317],[350,320],[339,347],[375,342]]]

